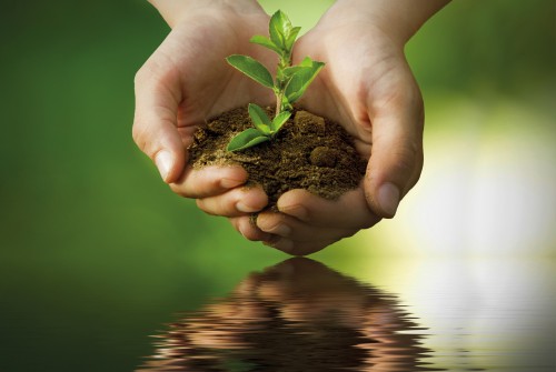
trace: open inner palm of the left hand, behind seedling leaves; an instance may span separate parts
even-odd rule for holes
[[[246,19],[249,17],[249,20]],[[237,24],[249,24],[237,30]],[[180,22],[149,61],[167,79],[161,90],[178,103],[177,127],[189,138],[190,129],[207,118],[258,101],[269,103],[271,91],[258,87],[226,63],[234,53],[250,54],[270,66],[271,54],[249,43],[249,34],[265,33],[268,16],[228,14]],[[147,66],[149,66],[149,62]]]

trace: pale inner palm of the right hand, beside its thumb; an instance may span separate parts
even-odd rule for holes
[[[401,50],[375,30],[354,36],[354,28],[311,30],[299,40],[296,58],[311,56],[327,62],[302,103],[342,124],[368,158],[373,117],[409,90],[418,94],[418,88]]]

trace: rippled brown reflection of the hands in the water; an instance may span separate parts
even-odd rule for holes
[[[139,371],[438,371],[424,332],[395,295],[296,258],[182,314]]]

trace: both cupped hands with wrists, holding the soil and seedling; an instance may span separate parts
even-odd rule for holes
[[[306,56],[326,62],[300,103],[344,125],[370,158],[359,188],[337,201],[292,190],[278,200],[279,213],[262,212],[254,225],[250,214],[267,197],[241,187],[245,170],[187,165],[196,125],[248,102],[272,102],[270,90],[224,62],[241,53],[270,70],[276,64],[271,52],[248,42],[268,33],[268,14],[256,1],[151,1],[172,32],[137,74],[133,138],[176,193],[229,218],[245,238],[296,255],[321,250],[394,217],[417,182],[424,105],[404,47],[447,2],[339,0],[296,44],[295,62]]]

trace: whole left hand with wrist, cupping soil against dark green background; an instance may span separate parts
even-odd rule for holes
[[[276,64],[270,51],[249,43],[251,36],[268,32],[268,14],[251,0],[151,2],[172,31],[136,77],[136,143],[176,193],[198,199],[201,207],[218,205],[224,215],[261,210],[267,204],[262,190],[238,188],[247,179],[245,170],[192,170],[186,149],[207,118],[248,102],[272,101],[271,91],[225,61],[244,53]]]

